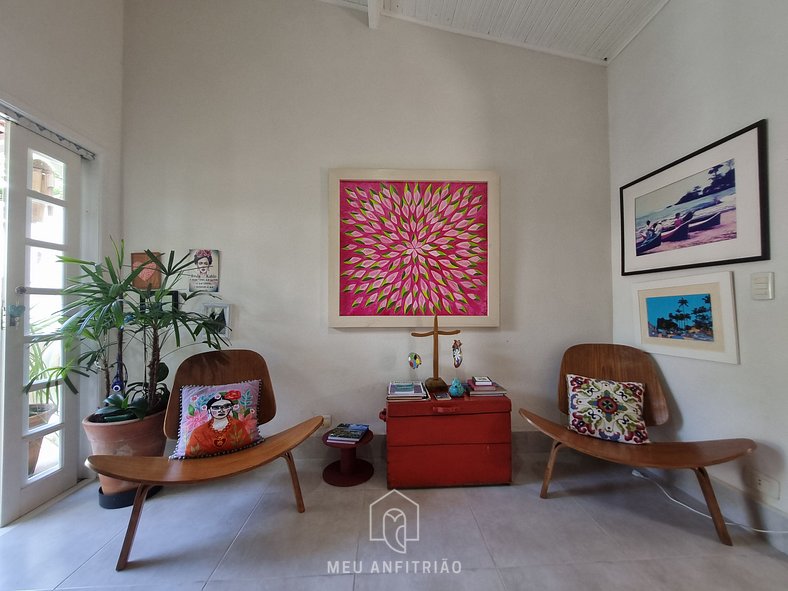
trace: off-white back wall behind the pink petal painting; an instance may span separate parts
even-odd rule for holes
[[[124,231],[132,249],[221,251],[233,345],[269,361],[281,424],[369,422],[431,343],[327,324],[334,167],[495,169],[500,329],[465,363],[552,405],[574,342],[611,337],[606,73],[313,0],[130,0]],[[526,428],[515,413],[516,430]]]

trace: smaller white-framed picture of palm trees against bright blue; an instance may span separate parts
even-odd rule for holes
[[[739,363],[729,271],[637,283],[635,340],[650,353]]]

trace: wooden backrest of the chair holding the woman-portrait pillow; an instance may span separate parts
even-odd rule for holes
[[[178,437],[183,386],[218,386],[246,380],[260,380],[257,422],[262,425],[276,415],[276,399],[265,359],[255,351],[231,349],[208,351],[185,359],[175,372],[172,392],[164,417],[164,433],[170,439]]]

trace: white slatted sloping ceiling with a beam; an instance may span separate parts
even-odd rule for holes
[[[669,0],[322,0],[364,10],[369,26],[397,18],[590,61],[614,59]]]

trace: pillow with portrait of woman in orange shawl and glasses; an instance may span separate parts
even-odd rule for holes
[[[259,395],[260,380],[181,388],[181,423],[170,458],[216,456],[260,443]]]

